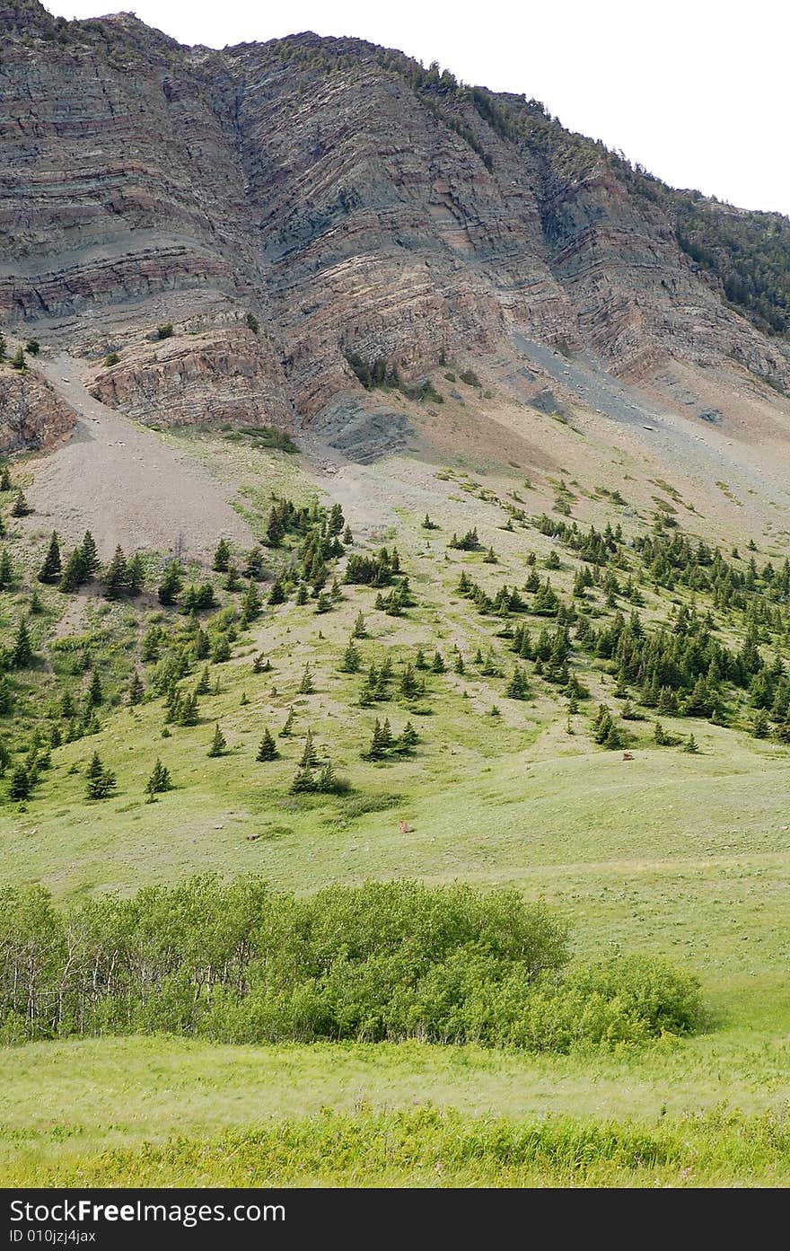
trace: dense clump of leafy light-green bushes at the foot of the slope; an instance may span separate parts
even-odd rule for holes
[[[515,891],[370,882],[305,899],[205,876],[64,914],[40,887],[6,887],[0,1041],[164,1031],[570,1052],[702,1022],[696,981],[660,961],[568,962],[564,922]]]

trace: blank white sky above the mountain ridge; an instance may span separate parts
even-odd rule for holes
[[[674,186],[790,215],[786,0],[46,0],[65,18],[134,6],[184,44],[301,30],[438,60],[465,83],[524,91]]]

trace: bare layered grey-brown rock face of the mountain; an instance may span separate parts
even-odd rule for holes
[[[190,49],[36,0],[0,29],[0,324],[141,422],[310,422],[349,354],[412,380],[514,332],[790,387],[671,205],[535,101],[350,39]]]

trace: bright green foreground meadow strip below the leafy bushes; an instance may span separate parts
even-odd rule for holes
[[[0,1056],[0,1183],[786,1185],[789,1058],[36,1043]]]

